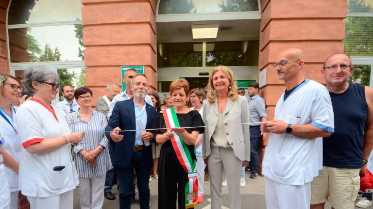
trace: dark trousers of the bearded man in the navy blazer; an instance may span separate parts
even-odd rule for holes
[[[119,209],[131,208],[131,197],[133,196],[134,169],[137,176],[137,189],[140,201],[140,209],[150,209],[150,167],[145,163],[145,152],[132,153],[130,164],[125,168],[117,167],[117,178],[119,180]]]

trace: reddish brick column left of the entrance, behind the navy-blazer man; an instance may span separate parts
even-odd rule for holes
[[[86,85],[94,99],[109,82],[121,84],[120,66],[143,65],[157,88],[156,0],[82,0]]]

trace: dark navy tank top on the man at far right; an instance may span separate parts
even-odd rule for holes
[[[323,165],[360,168],[363,134],[368,117],[365,86],[350,84],[343,93],[329,92],[334,112],[334,133],[323,137]]]

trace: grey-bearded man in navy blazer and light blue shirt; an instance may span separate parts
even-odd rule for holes
[[[153,134],[140,129],[149,129],[157,115],[156,109],[145,102],[149,90],[148,78],[144,74],[134,75],[131,81],[134,97],[117,102],[105,131],[107,138],[116,142],[113,165],[117,167],[119,181],[119,208],[131,208],[134,187],[134,169],[141,209],[149,209],[150,168],[153,166]],[[120,132],[120,130],[134,130]]]

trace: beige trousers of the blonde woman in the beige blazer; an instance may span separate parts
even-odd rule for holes
[[[236,157],[233,149],[211,146],[208,156],[208,172],[211,187],[211,209],[221,209],[222,173],[228,182],[230,209],[241,208],[239,180],[241,178],[242,162]]]

